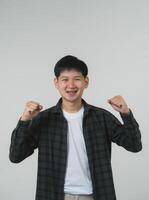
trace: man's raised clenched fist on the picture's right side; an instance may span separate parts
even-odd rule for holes
[[[124,114],[130,113],[130,110],[129,110],[125,100],[120,95],[114,96],[113,98],[108,99],[107,102],[109,104],[111,104],[111,106],[118,112],[121,112],[121,113],[124,113]]]

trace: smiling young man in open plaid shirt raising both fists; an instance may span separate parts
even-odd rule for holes
[[[12,133],[10,160],[21,162],[38,148],[36,200],[116,200],[111,143],[139,152],[139,125],[122,96],[107,102],[124,124],[84,101],[89,79],[83,61],[65,56],[54,70],[61,98],[44,111],[39,103],[27,102]]]

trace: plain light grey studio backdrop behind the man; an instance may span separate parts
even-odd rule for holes
[[[132,109],[143,149],[131,153],[112,145],[116,195],[149,199],[148,10],[147,0],[0,0],[0,200],[35,197],[38,151],[13,164],[10,137],[26,101],[44,109],[57,103],[53,68],[67,54],[88,65],[90,85],[83,95],[88,103],[119,120],[108,98],[122,95]]]

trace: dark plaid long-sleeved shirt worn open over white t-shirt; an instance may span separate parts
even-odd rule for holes
[[[116,200],[111,168],[111,143],[131,152],[142,149],[139,125],[130,114],[120,113],[123,124],[109,111],[84,104],[83,135],[93,184],[94,200]],[[30,121],[18,121],[11,136],[9,158],[18,163],[38,148],[36,200],[64,200],[67,167],[67,120],[56,106]],[[72,155],[73,156],[73,155]]]

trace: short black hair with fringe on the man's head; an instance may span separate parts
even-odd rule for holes
[[[85,62],[72,55],[64,56],[55,64],[54,74],[58,78],[62,71],[71,69],[81,72],[84,77],[88,74]]]

